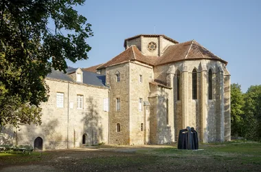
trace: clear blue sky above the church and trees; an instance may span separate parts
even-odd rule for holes
[[[195,39],[228,61],[231,83],[243,92],[261,84],[261,1],[87,0],[76,9],[94,36],[87,39],[89,59],[69,62],[71,67],[105,63],[124,51],[124,39],[156,33],[179,42]]]

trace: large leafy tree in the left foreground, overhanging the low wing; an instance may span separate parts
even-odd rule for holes
[[[87,59],[93,36],[75,6],[84,0],[0,1],[0,127],[41,124],[48,99],[45,76],[67,68],[66,59]],[[50,28],[54,23],[54,29]],[[65,34],[66,33],[66,34]]]

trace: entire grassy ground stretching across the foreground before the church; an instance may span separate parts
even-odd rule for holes
[[[166,146],[122,147],[34,152],[32,155],[0,153],[1,166],[21,168],[49,166],[48,171],[260,171],[260,142],[200,144],[199,149]],[[18,169],[16,169],[16,166]],[[18,167],[19,166],[19,167]],[[21,167],[22,166],[22,167]]]

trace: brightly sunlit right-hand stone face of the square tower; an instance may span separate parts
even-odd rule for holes
[[[140,75],[142,81],[140,82]],[[146,126],[144,120],[144,101],[148,101],[150,94],[149,83],[153,80],[152,67],[142,63],[130,63],[130,144],[144,144],[144,130],[141,131],[141,123]],[[139,98],[142,98],[142,109],[139,111]]]

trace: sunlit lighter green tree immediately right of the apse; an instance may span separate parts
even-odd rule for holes
[[[242,136],[242,115],[245,101],[241,85],[231,84],[231,134]]]

